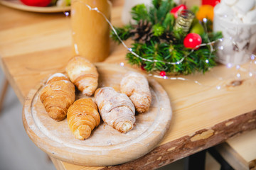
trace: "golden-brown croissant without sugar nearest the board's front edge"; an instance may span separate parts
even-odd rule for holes
[[[80,98],[68,108],[68,127],[76,139],[85,140],[100,124],[100,114],[92,98]]]

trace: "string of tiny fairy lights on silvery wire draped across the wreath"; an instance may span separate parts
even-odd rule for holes
[[[225,38],[220,38],[218,40],[215,40],[215,41],[212,41],[210,42],[210,40],[208,40],[207,43],[202,43],[201,45],[197,45],[196,47],[194,47],[193,49],[191,49],[191,52],[189,52],[187,55],[183,56],[181,58],[181,60],[177,61],[177,62],[165,62],[165,61],[159,61],[159,60],[149,60],[149,59],[145,59],[144,57],[141,57],[139,55],[137,55],[136,52],[132,51],[132,48],[128,47],[125,42],[119,37],[119,35],[117,34],[117,30],[115,30],[114,26],[112,25],[112,23],[110,22],[110,20],[107,18],[107,16],[105,16],[104,13],[102,13],[97,7],[95,8],[92,8],[91,6],[89,6],[88,4],[85,4],[83,1],[75,1],[75,2],[79,2],[85,6],[87,6],[87,8],[90,10],[90,11],[95,11],[97,13],[100,13],[100,15],[102,15],[104,18],[105,18],[105,21],[107,21],[107,23],[109,24],[110,28],[112,29],[112,31],[114,32],[115,35],[117,35],[117,38],[119,39],[119,41],[122,43],[122,45],[129,51],[132,53],[132,55],[134,55],[135,57],[138,57],[139,59],[141,60],[144,60],[146,62],[164,62],[165,64],[181,64],[183,62],[183,60],[188,57],[188,55],[190,55],[194,50],[196,50],[198,47],[203,47],[203,46],[206,46],[206,45],[210,45],[210,52],[213,52],[214,51],[214,48],[213,48],[213,45],[216,43],[216,42],[223,42],[223,40],[225,40]],[[65,16],[70,16],[70,13],[69,12],[64,12]],[[207,29],[206,27],[206,22],[207,22],[207,19],[206,18],[203,18],[203,26],[205,28],[205,30]],[[230,38],[232,39],[232,38]],[[223,45],[220,45],[218,46],[218,50],[225,50],[224,49],[224,46]],[[246,69],[246,68],[243,68],[243,67],[240,67],[239,64],[231,64],[231,63],[228,63],[226,64],[226,67],[228,69],[230,68],[233,68],[235,67],[235,69],[237,70],[237,73],[235,74],[235,76],[232,76],[232,77],[229,77],[229,78],[235,78],[235,79],[241,79],[241,73],[240,72],[246,72],[247,73],[247,77],[252,77],[254,74],[256,74],[256,69],[253,69],[253,67],[256,67],[256,55],[253,55],[252,53],[250,52],[247,52],[247,55],[250,56],[250,64],[249,64],[249,70]],[[206,63],[208,63],[209,61],[206,60],[205,61]],[[121,62],[119,63],[120,66],[124,67],[124,62]],[[212,86],[212,85],[206,85],[206,84],[202,84],[201,82],[197,81],[197,80],[193,80],[193,79],[188,79],[188,78],[185,78],[185,77],[176,77],[176,76],[161,76],[161,75],[157,75],[157,74],[148,74],[149,77],[155,77],[155,78],[158,78],[158,79],[169,79],[169,80],[179,80],[179,81],[191,81],[193,82],[194,84],[198,84],[200,86],[208,86],[208,87],[215,87],[216,89],[220,90],[222,89],[223,87],[227,86],[226,84],[225,85],[217,85],[217,86]],[[215,77],[218,77],[218,76],[215,76]],[[245,78],[245,77],[244,77]],[[223,77],[218,77],[219,80],[224,80]],[[228,78],[227,78],[228,79]],[[234,85],[235,86],[235,85]]]

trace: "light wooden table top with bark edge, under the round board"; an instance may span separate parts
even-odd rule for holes
[[[123,3],[113,1],[114,26],[122,25]],[[64,71],[73,57],[70,31],[70,18],[63,13],[31,13],[0,5],[1,68],[21,103],[42,79]],[[130,67],[126,49],[114,43],[111,48],[104,62]],[[111,167],[77,166],[52,158],[53,163],[57,169],[155,169],[255,129],[255,72],[248,76],[252,67],[247,63],[242,69],[228,69],[220,64],[204,75],[181,76],[188,81],[154,78],[169,95],[173,117],[164,139],[144,157]]]

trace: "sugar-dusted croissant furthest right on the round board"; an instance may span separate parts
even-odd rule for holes
[[[149,110],[151,103],[149,82],[142,74],[127,72],[122,78],[119,89],[131,99],[137,112],[145,113]]]

